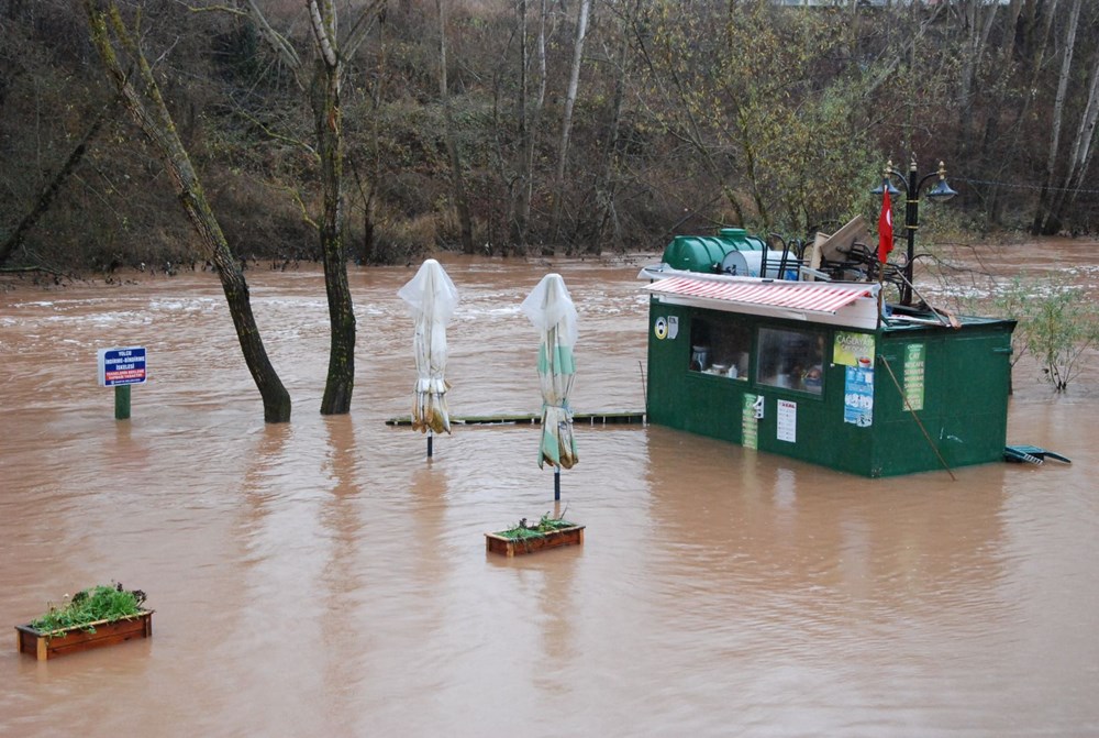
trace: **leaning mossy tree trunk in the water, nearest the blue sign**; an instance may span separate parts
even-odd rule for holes
[[[153,70],[122,22],[118,7],[111,2],[107,4],[106,10],[99,10],[97,4],[96,0],[85,0],[92,43],[122,95],[123,104],[133,115],[137,126],[160,152],[164,165],[176,184],[179,201],[198,232],[209,258],[218,268],[244,361],[264,400],[264,420],[287,422],[290,420],[290,395],[267,357],[263,339],[259,337],[259,328],[252,312],[244,273],[237,260],[233,257],[221,225],[207,201],[202,185],[160,96]],[[124,62],[120,59],[120,51]],[[126,67],[136,68],[136,79],[127,74],[123,63]],[[136,85],[141,85],[141,88]]]

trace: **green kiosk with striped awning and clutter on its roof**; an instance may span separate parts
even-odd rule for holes
[[[1014,321],[879,302],[902,271],[857,246],[673,240],[639,275],[650,422],[868,477],[1002,461]]]

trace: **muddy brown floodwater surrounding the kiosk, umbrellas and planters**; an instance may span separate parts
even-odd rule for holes
[[[1069,269],[1099,244],[966,251]],[[577,412],[641,410],[652,257],[442,257],[452,414],[541,407],[519,304],[559,272]],[[315,266],[246,273],[293,400],[265,426],[217,279],[0,290],[0,736],[1097,736],[1099,372],[1062,396],[1015,367],[1009,442],[1073,463],[865,480],[660,427],[410,411],[414,268],[352,268],[352,412],[321,417]],[[931,290],[933,291],[933,289]],[[96,352],[144,345],[114,419]],[[739,410],[737,410],[739,411]],[[484,533],[567,510],[582,547],[506,559]],[[13,626],[110,581],[154,637],[38,662]]]

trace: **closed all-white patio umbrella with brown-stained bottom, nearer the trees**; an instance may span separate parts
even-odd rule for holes
[[[412,393],[412,428],[420,432],[449,433],[451,416],[446,409],[449,384],[444,378],[446,326],[457,308],[458,290],[443,266],[429,258],[397,295],[408,302],[415,320],[412,350],[417,383]],[[429,454],[430,448],[429,444]]]

